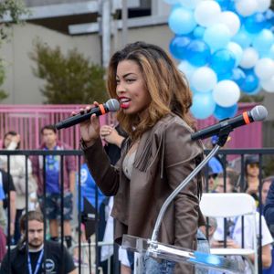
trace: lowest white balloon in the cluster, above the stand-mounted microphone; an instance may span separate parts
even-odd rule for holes
[[[240,89],[232,80],[222,80],[216,84],[213,90],[213,99],[221,107],[231,107],[240,98]]]

